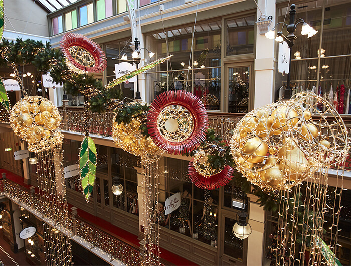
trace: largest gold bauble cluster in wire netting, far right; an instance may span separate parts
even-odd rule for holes
[[[342,162],[348,139],[330,103],[314,93],[299,93],[290,101],[246,114],[230,146],[237,170],[251,183],[274,191],[287,190],[318,169]]]

